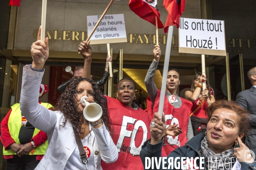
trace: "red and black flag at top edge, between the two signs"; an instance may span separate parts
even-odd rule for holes
[[[130,0],[129,7],[135,14],[153,25],[156,25],[157,17],[158,28],[163,28],[160,12],[157,9],[157,0]]]

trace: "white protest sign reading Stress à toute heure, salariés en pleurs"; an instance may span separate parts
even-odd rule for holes
[[[93,31],[100,17],[101,15],[87,16],[87,35]],[[105,15],[90,38],[90,44],[116,42],[127,42],[124,14]]]

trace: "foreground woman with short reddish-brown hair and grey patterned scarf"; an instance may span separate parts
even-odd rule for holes
[[[232,169],[234,162],[238,161],[241,170],[254,170],[256,162],[254,162],[248,147],[241,141],[247,135],[250,127],[247,120],[249,113],[234,101],[218,100],[207,108],[207,114],[209,116],[207,132],[193,137],[185,146],[176,148],[167,159],[173,158],[174,160],[176,157],[189,157],[190,159],[192,157],[195,160],[196,157],[204,157],[202,167],[206,170]],[[159,160],[163,146],[162,134],[166,126],[164,116],[161,121],[159,113],[154,113],[152,122],[155,122],[155,125],[154,127],[150,126],[151,139],[147,141],[140,152],[144,168],[146,165],[145,157],[150,159],[151,157],[157,157],[157,160]],[[159,134],[156,134],[156,132]],[[211,159],[213,162],[211,162]],[[215,160],[217,160],[217,164]],[[181,164],[180,159],[177,162]],[[195,162],[199,167],[199,159],[196,159]],[[239,164],[238,167],[240,167]],[[167,161],[164,166],[168,167],[168,165]],[[217,165],[218,167],[216,167]],[[157,169],[155,165],[154,169]],[[162,163],[158,170],[161,169]],[[170,166],[167,169],[180,170],[182,168]]]

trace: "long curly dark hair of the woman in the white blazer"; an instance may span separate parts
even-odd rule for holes
[[[102,107],[102,120],[112,136],[113,127],[109,116],[108,106],[103,99],[98,85],[93,82],[93,80],[87,78],[79,78],[74,80],[70,83],[70,85],[66,87],[64,93],[59,96],[55,110],[61,111],[64,114],[63,124],[60,125],[60,129],[66,125],[67,121],[69,121],[74,129],[77,129],[80,134],[83,134],[85,132],[85,129],[81,128],[83,124],[83,119],[81,119],[81,116],[83,116],[83,114],[79,113],[76,99],[77,87],[81,81],[90,82],[90,84],[92,85],[94,101]]]

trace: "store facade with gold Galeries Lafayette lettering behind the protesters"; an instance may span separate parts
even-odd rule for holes
[[[55,103],[56,88],[72,77],[65,72],[67,66],[83,65],[77,53],[82,40],[87,38],[87,15],[100,15],[109,0],[48,0],[46,35],[49,37],[50,55],[46,62],[42,83],[50,91],[42,102]],[[0,28],[0,108],[6,114],[11,105],[19,102],[22,68],[32,62],[30,49],[36,41],[41,25],[41,0],[22,0],[20,7],[8,6],[9,0],[0,2],[2,27]],[[158,0],[160,19],[165,23],[167,11],[163,0]],[[137,90],[147,96],[144,79],[154,59],[152,50],[156,44],[155,27],[134,14],[128,0],[114,1],[107,14],[124,14],[127,42],[111,44],[113,56],[113,80],[108,81],[105,94],[115,96],[115,85],[121,77],[130,77]],[[256,2],[232,0],[186,0],[182,17],[224,20],[227,56],[206,56],[206,73],[216,99],[234,100],[240,91],[250,88],[247,71],[256,66]],[[162,57],[154,77],[157,88],[161,88],[163,61],[167,34],[159,29],[159,44]],[[100,79],[105,67],[107,45],[91,45],[93,79]],[[120,50],[121,49],[121,50]],[[122,68],[119,68],[123,57]],[[169,67],[180,71],[180,96],[188,90],[192,79],[201,70],[201,55],[178,52],[178,29],[174,28]],[[112,84],[112,88],[110,85]],[[108,85],[109,84],[109,85]],[[3,116],[1,116],[3,118]],[[3,162],[3,161],[0,161]],[[0,164],[0,167],[3,164]]]

